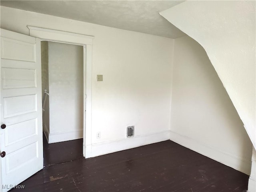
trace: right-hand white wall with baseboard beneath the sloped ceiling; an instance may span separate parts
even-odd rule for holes
[[[170,140],[250,174],[252,143],[204,48],[174,44]]]

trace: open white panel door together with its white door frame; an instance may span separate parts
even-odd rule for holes
[[[92,156],[93,36],[33,26],[28,28],[30,36],[1,29],[0,75],[4,83],[1,84],[0,96],[5,104],[1,105],[0,141],[3,157],[0,186],[16,186],[43,168],[42,40],[83,47],[83,143],[80,146],[84,157]],[[8,91],[10,88],[13,91]],[[9,189],[4,188],[3,191]]]

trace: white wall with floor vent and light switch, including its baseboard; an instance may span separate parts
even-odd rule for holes
[[[94,36],[88,153],[96,156],[169,138],[174,40],[1,7],[1,28],[28,35],[27,25]],[[96,81],[97,74],[103,82]],[[126,139],[131,125],[136,138]],[[114,141],[118,146],[104,147]]]

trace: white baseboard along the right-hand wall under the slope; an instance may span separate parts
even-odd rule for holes
[[[216,160],[226,166],[232,167],[235,170],[250,175],[252,163],[251,161],[242,159],[227,152],[220,151],[216,148],[212,148],[200,141],[194,140],[176,132],[170,131],[170,140],[213,160]]]

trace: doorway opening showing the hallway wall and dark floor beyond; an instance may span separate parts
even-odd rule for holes
[[[44,166],[84,158],[84,47],[41,41]]]

